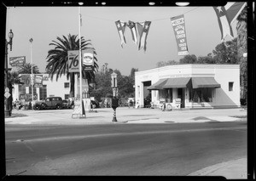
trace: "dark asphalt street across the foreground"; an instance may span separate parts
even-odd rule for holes
[[[247,122],[6,124],[10,175],[172,175],[247,156]]]

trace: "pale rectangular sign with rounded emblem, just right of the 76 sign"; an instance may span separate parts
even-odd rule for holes
[[[93,49],[88,48],[88,49],[82,50],[82,59],[83,59],[83,70],[94,71]]]

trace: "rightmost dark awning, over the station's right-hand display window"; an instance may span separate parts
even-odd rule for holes
[[[212,76],[198,76],[192,77],[192,88],[220,88],[220,84]]]

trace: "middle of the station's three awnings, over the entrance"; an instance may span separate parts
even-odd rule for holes
[[[168,78],[163,88],[187,88],[191,77]]]

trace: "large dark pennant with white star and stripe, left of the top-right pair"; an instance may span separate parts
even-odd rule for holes
[[[233,31],[230,26],[230,19],[227,16],[226,9],[223,6],[213,7],[215,10],[215,13],[217,14],[218,18],[218,25],[221,32],[221,41],[224,41],[224,38],[227,35],[230,35],[230,37],[233,37]]]

